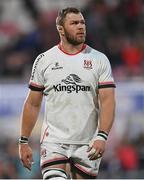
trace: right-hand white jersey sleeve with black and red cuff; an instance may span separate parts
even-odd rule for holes
[[[98,88],[115,88],[111,65],[108,58],[103,54],[100,59]]]

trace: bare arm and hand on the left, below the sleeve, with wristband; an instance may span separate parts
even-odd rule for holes
[[[21,137],[19,142],[19,156],[24,167],[31,170],[33,162],[32,150],[28,138],[37,121],[43,94],[40,91],[29,91],[22,112]]]

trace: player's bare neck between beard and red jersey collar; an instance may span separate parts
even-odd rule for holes
[[[72,45],[72,44],[61,41],[59,45],[62,51],[68,54],[76,54],[83,49],[84,43],[79,44],[79,45]]]

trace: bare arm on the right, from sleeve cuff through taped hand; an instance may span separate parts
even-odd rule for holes
[[[114,113],[115,113],[115,89],[114,88],[102,88],[99,89],[99,101],[100,101],[100,122],[99,122],[99,136],[92,142],[88,151],[89,158],[91,160],[101,156],[105,150],[105,142],[107,140],[108,133],[111,130]],[[95,152],[93,152],[95,151]]]

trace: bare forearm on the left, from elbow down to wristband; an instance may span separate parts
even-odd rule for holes
[[[21,136],[29,137],[37,121],[40,106],[26,102],[22,113]]]

